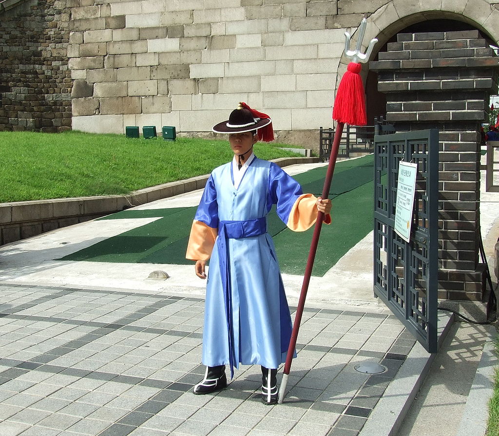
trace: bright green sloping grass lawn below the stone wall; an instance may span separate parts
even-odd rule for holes
[[[273,143],[254,150],[265,160],[299,156]],[[232,156],[223,140],[0,132],[0,203],[127,194],[209,174]]]

